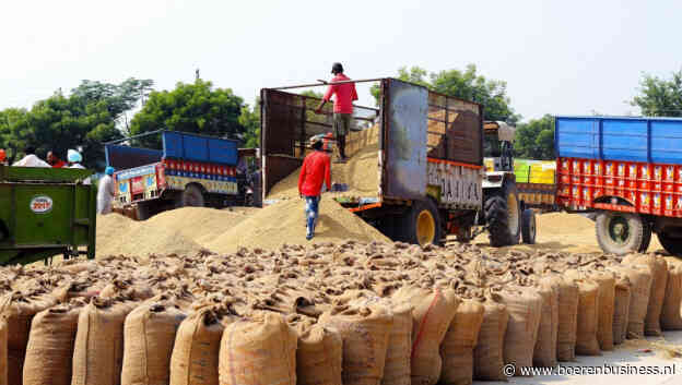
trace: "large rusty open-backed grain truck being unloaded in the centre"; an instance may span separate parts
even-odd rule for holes
[[[349,156],[376,148],[377,182],[372,193],[336,194],[337,202],[392,240],[438,244],[454,234],[468,241],[486,229],[493,245],[519,242],[514,173],[486,176],[483,169],[482,105],[396,79],[352,82],[379,84],[378,107],[355,106],[346,139]],[[273,203],[270,190],[301,167],[308,139],[333,131],[329,109],[321,118],[313,112],[319,99],[291,92],[325,85],[261,89],[264,204]]]

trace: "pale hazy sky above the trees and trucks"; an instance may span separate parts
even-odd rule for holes
[[[30,1],[0,4],[0,109],[30,108],[82,80],[195,70],[252,103],[262,87],[401,67],[465,69],[507,82],[524,120],[638,115],[643,73],[682,69],[682,1]],[[366,87],[361,103],[372,105]]]

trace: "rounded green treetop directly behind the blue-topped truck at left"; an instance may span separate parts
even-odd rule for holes
[[[144,107],[130,123],[130,133],[139,135],[161,129],[243,140],[239,122],[244,100],[228,88],[213,88],[211,82],[178,83],[173,91],[152,92]],[[139,141],[160,148],[156,136]]]

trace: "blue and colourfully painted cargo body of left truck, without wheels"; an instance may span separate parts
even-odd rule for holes
[[[107,165],[118,170],[114,178],[119,203],[177,198],[188,185],[201,187],[204,195],[238,193],[236,141],[173,131],[160,134],[161,151],[106,145]]]

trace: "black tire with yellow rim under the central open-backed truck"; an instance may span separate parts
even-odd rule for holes
[[[443,230],[438,208],[432,200],[414,201],[402,217],[400,240],[419,244],[440,244]]]

